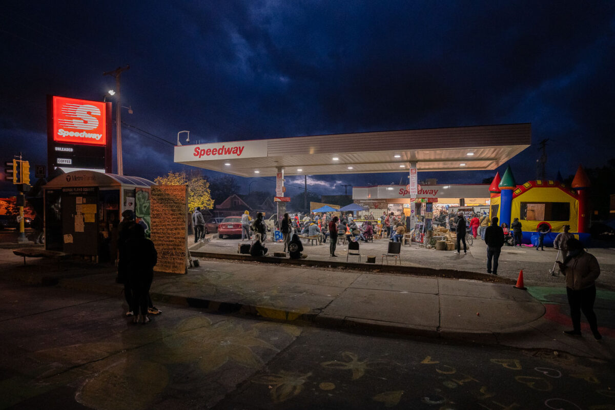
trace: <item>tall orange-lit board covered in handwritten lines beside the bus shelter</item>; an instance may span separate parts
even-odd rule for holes
[[[158,252],[157,272],[188,272],[188,185],[151,187],[151,240]]]

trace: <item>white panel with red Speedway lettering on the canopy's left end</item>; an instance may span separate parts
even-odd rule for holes
[[[189,162],[266,156],[267,144],[263,141],[234,141],[231,143],[175,146],[173,160],[175,162]]]

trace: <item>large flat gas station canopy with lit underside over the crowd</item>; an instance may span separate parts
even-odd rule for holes
[[[175,146],[177,164],[237,176],[493,170],[531,144],[531,124],[298,136]]]

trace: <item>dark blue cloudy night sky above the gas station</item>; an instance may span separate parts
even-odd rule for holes
[[[534,145],[510,162],[517,183],[536,178],[544,138],[547,177],[568,176],[615,157],[614,31],[615,1],[5,2],[0,152],[47,164],[46,95],[101,101],[114,88],[103,71],[130,65],[125,175],[189,168],[172,160],[181,130],[208,143],[531,122]],[[400,178],[313,176],[308,188]],[[238,179],[246,193],[252,179]]]

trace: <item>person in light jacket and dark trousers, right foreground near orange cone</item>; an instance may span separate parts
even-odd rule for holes
[[[600,265],[595,256],[585,252],[581,241],[568,239],[566,249],[569,254],[563,262],[557,261],[560,272],[566,277],[566,296],[570,306],[573,329],[564,331],[568,336],[581,336],[581,311],[587,318],[593,337],[602,339],[598,331],[598,320],[593,312],[596,301],[596,279],[600,275]]]

